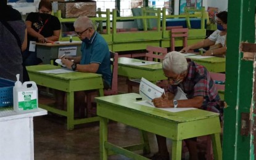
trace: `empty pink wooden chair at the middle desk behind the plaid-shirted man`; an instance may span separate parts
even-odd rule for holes
[[[167,54],[167,48],[163,48],[163,47],[147,46],[146,50],[147,50],[147,53],[145,55],[145,60],[148,60],[148,61],[163,60],[163,58]],[[139,87],[139,82],[140,82],[140,79],[127,79],[126,84],[128,87],[128,93],[133,92],[134,86]],[[157,82],[157,86],[159,87],[165,87],[167,86],[167,84],[168,84],[167,81]]]

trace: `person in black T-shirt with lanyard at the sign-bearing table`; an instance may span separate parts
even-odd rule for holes
[[[52,3],[49,0],[41,0],[38,12],[28,14],[25,23],[28,30],[27,50],[23,53],[25,65],[38,65],[42,60],[36,57],[36,52],[30,49],[30,42],[59,41],[60,21],[51,15]]]

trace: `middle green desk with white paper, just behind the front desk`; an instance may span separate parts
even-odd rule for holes
[[[157,81],[167,79],[163,75],[162,63],[153,65],[135,66],[130,65],[133,62],[142,62],[134,58],[120,57],[118,58],[118,75],[128,78],[145,78],[156,84]]]

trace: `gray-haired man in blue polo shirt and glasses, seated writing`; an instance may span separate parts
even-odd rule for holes
[[[64,57],[62,63],[73,71],[102,74],[104,89],[111,87],[112,72],[110,68],[110,52],[107,42],[101,34],[94,30],[93,22],[86,16],[79,17],[74,23],[75,32],[81,39],[82,55]],[[58,97],[56,97],[58,98]],[[58,101],[58,100],[57,100]],[[85,92],[75,92],[75,107],[85,106]],[[60,104],[64,105],[62,101]]]

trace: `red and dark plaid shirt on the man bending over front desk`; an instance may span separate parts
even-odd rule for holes
[[[177,86],[181,87],[188,99],[196,96],[204,97],[200,109],[220,113],[220,97],[209,72],[204,66],[193,62],[189,58],[187,58],[187,62],[188,74],[184,81]],[[169,85],[168,90],[176,94],[177,86]]]

